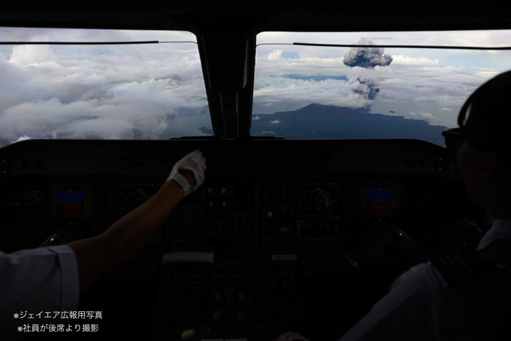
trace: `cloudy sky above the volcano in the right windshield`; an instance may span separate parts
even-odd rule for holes
[[[378,45],[503,47],[509,46],[511,30],[260,33],[252,118],[318,103],[368,108],[454,127],[469,95],[486,80],[511,69],[509,51],[385,48],[382,52],[391,56],[388,65],[361,67],[344,63],[350,48],[289,45],[357,44],[361,38]],[[377,89],[374,98],[362,96],[359,87],[354,91],[357,79],[365,80],[358,86]]]

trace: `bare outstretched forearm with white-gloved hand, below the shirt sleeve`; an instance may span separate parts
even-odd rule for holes
[[[205,169],[205,159],[200,151],[184,156],[176,163],[166,183],[149,200],[114,222],[104,233],[68,243],[76,255],[80,291],[133,257],[160,228],[185,193],[193,192],[202,184]]]

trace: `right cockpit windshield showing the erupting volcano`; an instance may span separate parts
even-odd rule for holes
[[[444,145],[464,101],[511,69],[511,30],[262,32],[251,135]]]

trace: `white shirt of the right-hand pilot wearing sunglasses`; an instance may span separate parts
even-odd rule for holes
[[[494,220],[477,249],[503,238],[511,238],[511,219]],[[438,320],[446,286],[431,262],[413,266],[394,281],[389,292],[341,341],[442,339]]]

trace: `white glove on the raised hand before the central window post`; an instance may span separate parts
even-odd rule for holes
[[[189,169],[193,172],[195,177],[195,184],[190,185],[188,180],[181,174],[179,174],[180,169]],[[202,183],[204,182],[204,171],[206,170],[206,159],[202,156],[202,152],[200,150],[195,150],[190,154],[187,154],[181,160],[176,162],[172,171],[170,172],[167,181],[174,180],[179,184],[184,190],[184,196],[189,195],[193,191],[195,191]]]

